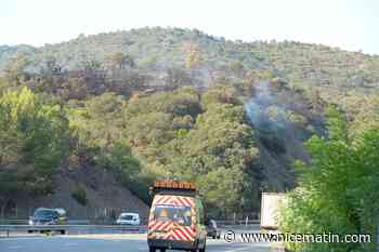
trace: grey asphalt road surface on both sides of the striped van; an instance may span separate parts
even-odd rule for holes
[[[147,252],[146,235],[91,235],[0,238],[1,252]],[[209,252],[278,252],[270,243],[207,240]]]

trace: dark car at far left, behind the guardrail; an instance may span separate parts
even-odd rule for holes
[[[67,224],[67,215],[64,209],[39,208],[29,217],[29,225],[64,225]]]

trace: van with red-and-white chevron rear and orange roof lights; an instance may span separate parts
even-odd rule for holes
[[[185,250],[205,252],[207,230],[204,208],[194,183],[157,181],[148,217],[149,252]]]

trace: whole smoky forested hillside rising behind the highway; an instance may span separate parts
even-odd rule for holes
[[[154,180],[191,180],[210,215],[249,215],[261,190],[306,178],[292,164],[329,145],[303,143],[328,138],[330,105],[354,137],[378,125],[379,56],[318,44],[143,28],[3,45],[0,72],[2,204],[93,167],[145,202]]]

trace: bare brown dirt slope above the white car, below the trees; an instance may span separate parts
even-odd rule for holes
[[[77,171],[61,170],[54,175],[54,193],[40,198],[30,196],[15,197],[12,215],[17,217],[32,214],[39,207],[64,208],[70,220],[112,220],[120,212],[138,212],[146,220],[148,207],[123,187],[114,174],[96,168],[81,168]],[[87,193],[88,203],[82,205],[71,196],[82,188]],[[16,210],[17,209],[17,210]]]

